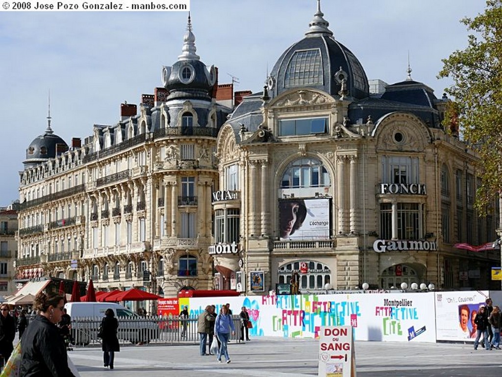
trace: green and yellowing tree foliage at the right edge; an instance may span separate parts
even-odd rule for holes
[[[446,88],[455,98],[446,120],[458,122],[464,140],[481,158],[476,208],[484,213],[502,193],[502,0],[487,0],[483,14],[461,22],[472,32],[468,45],[443,59],[438,77],[454,82]]]

